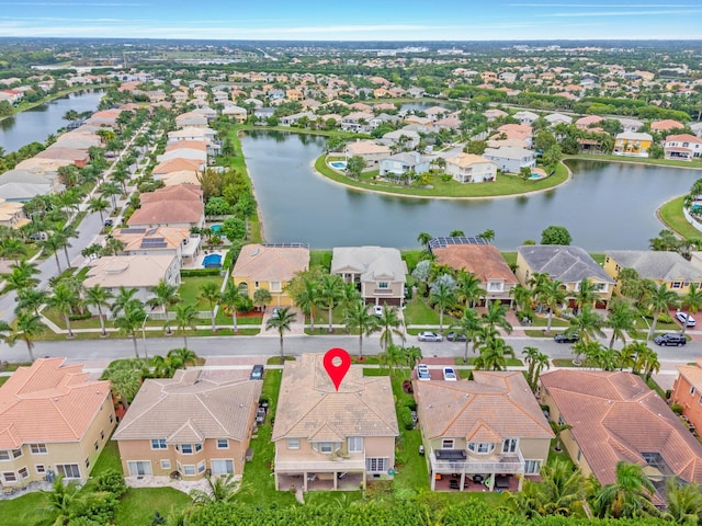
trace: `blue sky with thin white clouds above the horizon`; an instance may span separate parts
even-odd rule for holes
[[[0,36],[684,39],[702,38],[702,1],[0,0]]]

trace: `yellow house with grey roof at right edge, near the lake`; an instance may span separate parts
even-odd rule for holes
[[[639,277],[665,284],[670,290],[684,296],[690,285],[702,284],[702,268],[693,265],[677,252],[650,250],[610,250],[604,253],[604,271],[614,279],[622,268],[634,268]],[[616,283],[616,289],[620,284]]]

